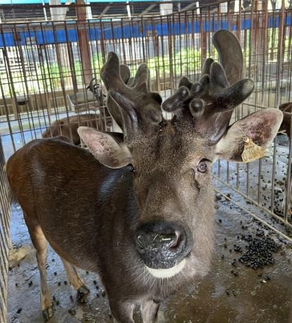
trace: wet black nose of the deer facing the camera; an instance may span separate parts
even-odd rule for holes
[[[190,252],[186,231],[166,221],[145,223],[135,233],[135,245],[145,265],[153,269],[174,267]]]

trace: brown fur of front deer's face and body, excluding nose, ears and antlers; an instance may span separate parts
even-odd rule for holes
[[[135,176],[129,166],[106,168],[88,151],[54,139],[30,142],[7,163],[27,218],[65,261],[100,274],[119,322],[133,322],[136,303],[144,322],[154,322],[159,302],[204,276],[212,253],[211,164],[204,175],[195,169],[201,157],[214,158],[214,149],[172,124],[141,139],[131,147]],[[135,228],[153,219],[176,221],[192,232],[187,265],[173,278],[154,278],[137,256]]]

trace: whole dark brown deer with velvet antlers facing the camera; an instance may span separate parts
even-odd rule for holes
[[[128,86],[119,58],[109,53],[101,78],[124,133],[80,126],[89,151],[47,138],[7,161],[11,192],[36,248],[45,320],[54,315],[47,242],[78,293],[89,289],[76,267],[100,276],[120,323],[134,323],[136,305],[144,323],[155,322],[161,302],[210,271],[212,163],[243,162],[244,138],[266,148],[282,122],[281,111],[265,109],[229,125],[254,82],[242,79],[243,54],[231,32],[219,30],[213,43],[222,65],[207,59],[199,80],[183,78],[164,102],[148,89],[146,65]],[[165,120],[162,109],[173,118]]]

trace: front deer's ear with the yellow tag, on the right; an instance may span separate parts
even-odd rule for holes
[[[232,126],[229,126],[225,137],[218,142],[216,157],[242,162],[245,148],[244,138],[251,144],[259,146],[254,146],[255,150],[267,148],[276,136],[282,120],[283,113],[280,110],[263,109],[234,122]]]

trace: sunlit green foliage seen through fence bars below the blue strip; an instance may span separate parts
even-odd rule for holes
[[[289,38],[289,30],[286,27],[284,30],[282,40],[282,59],[284,62],[289,62],[292,59],[291,48],[292,41]],[[251,32],[250,30],[245,31],[245,48],[244,49],[244,60],[245,65],[248,67],[251,58],[252,63],[256,63],[254,55],[258,55],[259,59],[262,54],[261,50],[254,48],[254,52],[251,52],[251,47],[254,47],[254,42],[251,43]],[[280,46],[279,32],[277,28],[269,28],[267,30],[267,44],[265,63],[276,63],[278,60],[278,50]],[[250,47],[251,46],[251,47]],[[207,53],[206,56],[211,56],[214,60],[218,61],[218,54],[214,47],[212,47],[212,52]],[[166,49],[166,53],[168,50]],[[194,74],[199,74],[201,71],[201,48],[183,48],[177,52],[172,51],[171,55],[158,55],[153,58],[148,58],[146,63],[150,69],[150,78],[155,79],[157,76],[161,80],[164,78],[169,78],[170,74],[173,74],[175,78],[180,76],[193,76]],[[100,52],[93,54],[91,58],[91,66],[95,71],[95,74],[99,76],[100,69],[103,65],[102,54]],[[131,75],[135,75],[137,71],[138,63],[133,62],[131,64]],[[3,96],[12,96],[12,82],[13,88],[17,96],[23,95],[23,93],[33,94],[43,91],[56,91],[62,88],[62,85],[66,89],[72,87],[72,78],[76,78],[77,85],[82,85],[82,65],[79,60],[74,60],[74,67],[60,67],[58,63],[47,62],[34,68],[12,70],[11,78],[6,71],[1,72],[1,82],[3,87]],[[62,82],[64,82],[62,84]]]

